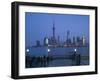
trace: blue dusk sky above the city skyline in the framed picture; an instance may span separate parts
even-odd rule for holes
[[[65,41],[67,30],[70,37],[86,36],[89,39],[89,16],[73,14],[25,13],[25,44],[36,45],[36,40],[43,44],[44,37],[52,36],[52,27],[55,24],[55,36]]]

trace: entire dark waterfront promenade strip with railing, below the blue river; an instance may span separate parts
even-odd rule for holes
[[[26,56],[26,68],[89,65],[89,56],[81,54],[59,56]]]

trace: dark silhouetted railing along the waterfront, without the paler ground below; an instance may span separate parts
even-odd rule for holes
[[[71,54],[71,55],[56,55],[56,56],[26,56],[26,68],[31,67],[47,67],[50,61],[53,60],[71,60],[71,65],[81,65],[82,60],[89,60],[89,56],[81,56],[81,54]],[[34,63],[34,65],[32,65]],[[40,65],[38,65],[40,64]]]

